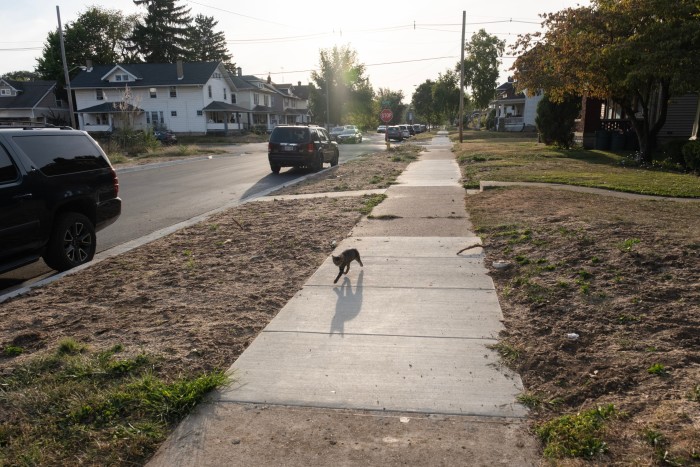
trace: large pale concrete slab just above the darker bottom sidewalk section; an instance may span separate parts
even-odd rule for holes
[[[481,339],[263,332],[219,402],[524,417],[520,379]]]

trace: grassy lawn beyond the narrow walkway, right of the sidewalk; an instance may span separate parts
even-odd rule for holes
[[[697,175],[630,167],[624,153],[556,149],[534,137],[467,132],[455,143],[465,186],[481,180],[563,183],[658,196],[700,197]]]

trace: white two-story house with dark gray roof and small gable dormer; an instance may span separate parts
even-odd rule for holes
[[[88,64],[71,80],[78,126],[167,129],[181,134],[228,133],[250,128],[250,111],[221,62]]]

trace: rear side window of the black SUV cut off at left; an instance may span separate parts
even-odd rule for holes
[[[49,177],[109,167],[99,148],[84,135],[15,136],[13,141]]]

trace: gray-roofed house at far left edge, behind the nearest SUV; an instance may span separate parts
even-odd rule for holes
[[[0,124],[70,122],[68,105],[56,95],[55,81],[0,78]]]

